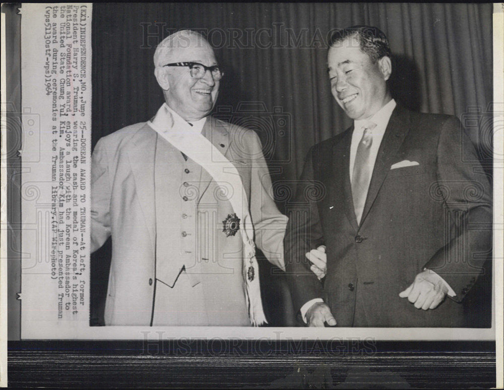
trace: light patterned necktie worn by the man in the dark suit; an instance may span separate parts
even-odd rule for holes
[[[373,143],[372,130],[376,124],[369,122],[362,126],[364,133],[357,146],[357,153],[355,154],[355,162],[352,171],[352,197],[355,216],[357,217],[357,224],[360,224],[362,211],[364,211],[364,204],[366,202],[367,190],[369,189],[369,182],[373,173],[374,164],[369,161],[369,154],[371,145]]]

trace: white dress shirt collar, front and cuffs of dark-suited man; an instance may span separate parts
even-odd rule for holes
[[[396,108],[396,101],[394,99],[390,100],[387,104],[385,104],[379,111],[377,111],[373,116],[364,120],[357,120],[353,122],[353,133],[352,133],[352,141],[350,143],[350,180],[352,179],[353,166],[355,164],[355,155],[357,154],[357,147],[359,145],[360,140],[362,139],[362,135],[364,134],[364,127],[369,122],[372,122],[376,125],[376,127],[371,131],[371,136],[373,142],[371,143],[371,148],[369,150],[369,161],[373,164],[376,162],[376,156],[378,155],[378,150],[380,149],[380,145],[383,140],[383,136],[385,135],[385,130],[387,129],[387,125],[389,124],[390,117],[392,116],[392,112],[394,108]],[[425,269],[424,269],[425,270]],[[445,283],[445,286],[448,287],[448,295],[454,297],[455,291],[450,287],[450,285],[439,275],[437,275],[434,271],[431,272],[436,275],[440,280]],[[399,292],[398,292],[399,294]],[[306,312],[308,309],[316,302],[324,302],[322,298],[315,298],[308,302],[306,302],[301,309],[301,317],[304,322],[306,321]]]

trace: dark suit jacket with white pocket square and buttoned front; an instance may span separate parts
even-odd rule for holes
[[[286,238],[295,310],[320,297],[338,326],[462,326],[459,302],[491,250],[490,185],[474,145],[455,117],[397,106],[358,226],[349,174],[352,131],[313,146],[306,157]],[[391,170],[403,160],[418,164]],[[323,282],[305,258],[321,244],[327,246]],[[424,267],[457,294],[434,310],[398,296]]]

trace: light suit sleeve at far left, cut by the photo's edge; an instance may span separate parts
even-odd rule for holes
[[[110,183],[106,148],[98,141],[91,157],[91,253],[110,236]]]

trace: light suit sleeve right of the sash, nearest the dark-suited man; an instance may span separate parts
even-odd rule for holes
[[[251,134],[252,171],[250,183],[250,216],[254,222],[255,241],[270,263],[285,271],[283,239],[287,216],[277,208],[268,166],[262,152],[261,141],[254,131]]]

